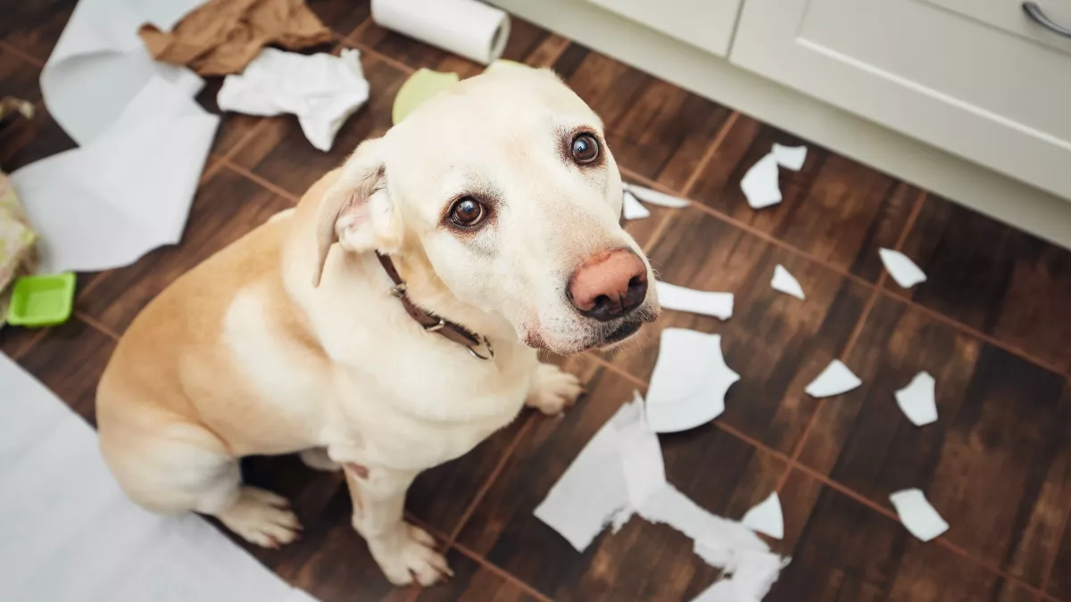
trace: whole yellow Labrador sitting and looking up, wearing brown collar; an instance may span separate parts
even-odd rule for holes
[[[299,525],[242,484],[241,456],[345,468],[383,573],[432,584],[450,570],[403,521],[413,478],[579,395],[537,349],[609,347],[657,317],[620,213],[601,121],[553,73],[465,80],[141,312],[97,391],[108,465],[146,508],[265,546]]]

